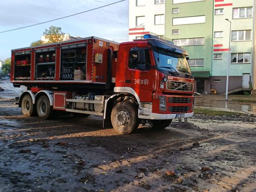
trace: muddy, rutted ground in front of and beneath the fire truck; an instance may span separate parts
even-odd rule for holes
[[[101,117],[24,117],[0,101],[1,192],[255,192],[255,117],[196,115],[131,135]]]

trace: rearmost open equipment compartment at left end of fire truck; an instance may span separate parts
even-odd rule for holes
[[[14,78],[16,80],[30,80],[31,52],[15,53]]]

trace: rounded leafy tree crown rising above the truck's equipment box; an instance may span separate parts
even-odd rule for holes
[[[64,33],[61,31],[61,28],[53,25],[50,26],[49,29],[45,30],[44,35],[48,40],[47,43],[63,42],[64,39]]]

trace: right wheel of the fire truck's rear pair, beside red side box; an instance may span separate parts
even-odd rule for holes
[[[53,107],[46,95],[42,95],[37,100],[37,115],[41,119],[50,119],[53,117]]]

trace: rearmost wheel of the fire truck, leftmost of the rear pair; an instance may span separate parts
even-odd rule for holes
[[[23,115],[27,117],[35,116],[36,106],[33,104],[32,98],[29,94],[25,95],[21,100],[21,110]]]

